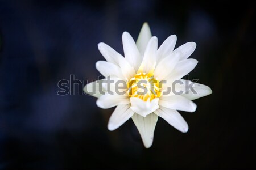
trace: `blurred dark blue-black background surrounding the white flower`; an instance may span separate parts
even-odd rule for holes
[[[213,90],[181,112],[188,133],[159,118],[149,149],[131,120],[108,131],[114,108],[57,95],[71,74],[97,79],[98,42],[123,54],[145,21],[159,44],[197,43],[190,79]],[[255,30],[247,1],[0,1],[0,169],[256,168]]]

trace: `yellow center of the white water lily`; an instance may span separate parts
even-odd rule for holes
[[[137,73],[127,82],[127,93],[130,97],[138,97],[144,101],[153,100],[162,95],[159,81],[154,78],[153,73]]]

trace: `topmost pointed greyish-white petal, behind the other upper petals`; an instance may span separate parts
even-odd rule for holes
[[[151,39],[151,37],[152,34],[150,31],[150,27],[148,26],[148,23],[144,23],[141,28],[141,32],[139,32],[138,39],[136,41],[136,45],[139,49],[139,52],[141,53],[141,56],[144,55],[148,41]]]

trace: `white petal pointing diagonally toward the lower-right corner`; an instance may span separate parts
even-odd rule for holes
[[[187,122],[176,110],[160,107],[154,113],[162,117],[168,122],[168,124],[174,126],[174,128],[176,128],[177,130],[183,133],[188,131]]]

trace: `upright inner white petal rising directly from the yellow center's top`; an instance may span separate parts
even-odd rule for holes
[[[158,50],[158,38],[152,37],[147,44],[147,48],[144,53],[143,61],[139,66],[139,71],[149,73],[155,69],[156,65],[156,52]]]

